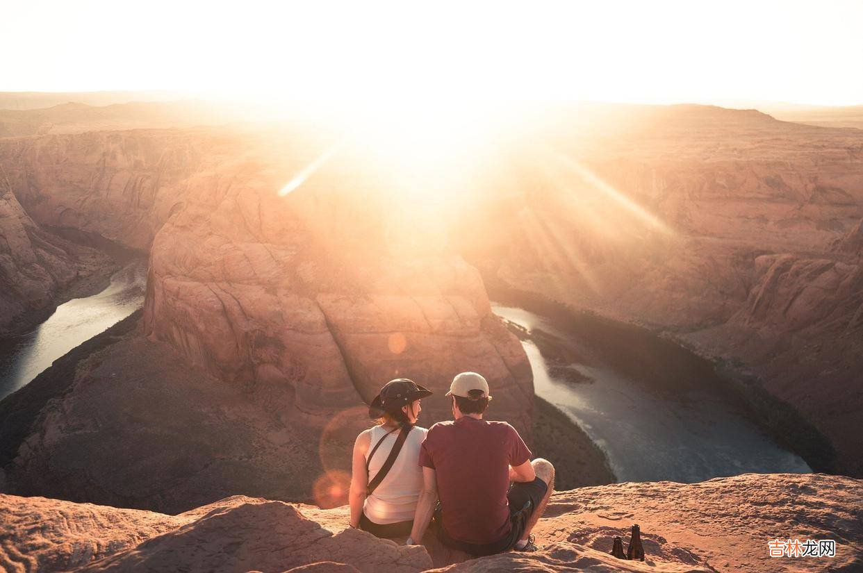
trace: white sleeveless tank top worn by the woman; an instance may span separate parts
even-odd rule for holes
[[[381,438],[387,436],[391,428],[383,428],[376,425],[371,429],[372,440],[369,444],[369,453]],[[423,488],[423,469],[419,467],[419,446],[425,439],[425,428],[413,426],[413,430],[407,434],[405,444],[401,446],[399,457],[395,458],[393,467],[387,472],[387,476],[366,498],[363,512],[370,520],[379,525],[396,523],[398,521],[410,521],[417,508],[419,492]],[[396,430],[387,438],[384,438],[381,446],[375,451],[369,463],[369,483],[375,479],[378,471],[393,450],[399,431]],[[369,459],[369,453],[366,459]]]

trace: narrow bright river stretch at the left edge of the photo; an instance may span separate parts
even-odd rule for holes
[[[33,331],[0,340],[0,400],[69,350],[141,308],[146,284],[147,260],[139,258],[117,271],[101,293],[69,300]]]

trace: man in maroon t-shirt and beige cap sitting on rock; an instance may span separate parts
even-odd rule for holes
[[[491,396],[481,375],[457,375],[446,395],[455,420],[432,425],[420,447],[424,488],[407,545],[422,541],[433,516],[438,539],[451,549],[537,551],[530,533],[551,496],[554,467],[531,462],[513,426],[482,419]]]

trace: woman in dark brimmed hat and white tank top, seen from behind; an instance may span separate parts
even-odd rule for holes
[[[377,425],[362,431],[354,444],[350,480],[350,526],[380,538],[407,537],[413,527],[423,470],[419,446],[419,400],[431,392],[414,381],[388,381],[369,406]]]

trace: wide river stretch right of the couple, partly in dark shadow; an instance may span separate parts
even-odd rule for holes
[[[605,451],[618,481],[811,471],[760,431],[728,383],[690,351],[598,318],[493,306],[524,329],[536,394]]]

